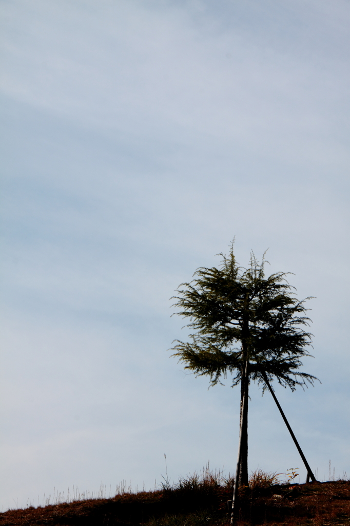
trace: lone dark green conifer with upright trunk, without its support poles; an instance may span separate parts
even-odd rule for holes
[[[177,315],[190,319],[194,330],[189,342],[176,340],[172,348],[179,361],[196,376],[209,375],[210,385],[233,375],[232,387],[241,386],[239,485],[248,485],[248,398],[251,380],[267,388],[276,379],[292,391],[313,384],[312,375],[300,372],[301,358],[311,356],[311,333],[305,327],[304,300],[297,300],[286,273],[265,277],[253,252],[248,268],[235,260],[233,243],[219,268],[201,267],[190,283],[177,289]]]

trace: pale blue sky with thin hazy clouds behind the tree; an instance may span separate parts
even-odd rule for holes
[[[239,389],[171,358],[170,298],[267,252],[322,383],[275,392],[350,475],[348,0],[1,0],[0,510],[235,469]],[[252,384],[249,469],[306,470]],[[283,476],[282,476],[283,478]]]

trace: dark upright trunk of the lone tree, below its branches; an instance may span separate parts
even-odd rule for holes
[[[246,353],[246,361],[248,360]],[[240,432],[242,429],[241,460],[239,486],[248,486],[248,395],[249,395],[249,363],[245,363],[244,374],[241,381],[241,418]],[[244,400],[244,402],[243,402]]]

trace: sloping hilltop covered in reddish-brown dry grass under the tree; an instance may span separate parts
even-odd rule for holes
[[[350,481],[291,485],[276,477],[252,474],[237,526],[350,526]],[[232,479],[205,468],[158,491],[9,510],[0,513],[0,526],[229,526],[231,498]]]

